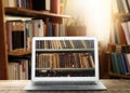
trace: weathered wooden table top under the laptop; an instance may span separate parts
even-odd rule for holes
[[[130,93],[130,80],[101,80],[106,91],[24,91],[28,80],[0,80],[0,93]]]

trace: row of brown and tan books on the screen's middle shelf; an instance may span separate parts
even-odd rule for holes
[[[90,53],[40,53],[36,55],[36,67],[44,68],[94,68]]]

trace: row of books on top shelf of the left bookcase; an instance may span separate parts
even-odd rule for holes
[[[23,8],[64,14],[67,0],[3,0],[5,8]]]

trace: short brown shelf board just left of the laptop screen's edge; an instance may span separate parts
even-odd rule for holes
[[[17,49],[12,52],[9,52],[8,54],[11,56],[23,56],[23,55],[31,54],[31,51],[26,51],[24,49]]]

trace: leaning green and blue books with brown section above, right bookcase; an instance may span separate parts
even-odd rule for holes
[[[130,45],[110,44],[112,70],[118,75],[130,75]]]

